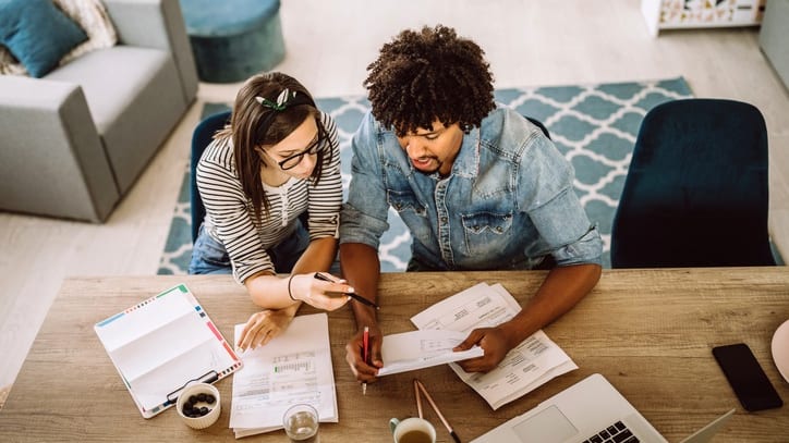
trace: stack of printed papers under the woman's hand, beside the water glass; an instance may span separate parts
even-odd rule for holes
[[[235,325],[235,337],[244,324]],[[337,393],[326,313],[298,316],[265,346],[240,354],[244,368],[233,377],[230,428],[235,438],[282,429],[282,415],[308,403],[324,422],[337,422]]]

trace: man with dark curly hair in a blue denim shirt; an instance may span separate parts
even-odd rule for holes
[[[602,242],[573,190],[572,165],[538,126],[496,106],[483,50],[452,28],[404,30],[367,70],[372,113],[352,140],[341,212],[343,275],[375,296],[390,207],[413,237],[409,271],[550,269],[520,313],[458,346],[482,346],[483,357],[460,366],[489,371],[599,280]],[[352,305],[359,332],[345,359],[359,381],[372,382],[384,365],[381,331],[374,309]]]

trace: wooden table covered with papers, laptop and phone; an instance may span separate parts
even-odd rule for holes
[[[413,330],[413,313],[478,282],[500,282],[523,302],[544,276],[543,271],[386,273],[380,322],[386,333]],[[231,378],[217,383],[222,414],[213,427],[190,429],[174,409],[146,420],[93,330],[97,321],[182,282],[230,340],[232,325],[255,311],[243,286],[229,276],[65,280],[0,411],[0,441],[234,441],[228,428]],[[746,343],[789,402],[789,383],[770,357],[773,332],[789,319],[789,268],[607,270],[592,294],[545,328],[580,369],[495,411],[446,365],[381,378],[362,396],[344,361],[352,318],[347,308],[329,315],[340,422],[321,424],[324,443],[391,441],[389,418],[416,415],[415,376],[469,441],[594,372],[606,376],[669,441],[732,407],[737,414],[716,442],[789,440],[789,406],[745,411],[711,353],[716,345]],[[438,441],[451,441],[433,411],[425,414]],[[282,441],[284,434],[247,439]]]

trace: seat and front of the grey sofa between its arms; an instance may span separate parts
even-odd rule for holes
[[[174,61],[159,49],[124,45],[99,49],[52,71],[47,81],[81,86],[121,194],[187,104]]]

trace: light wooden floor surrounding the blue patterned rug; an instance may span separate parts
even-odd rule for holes
[[[500,88],[682,75],[699,97],[751,102],[767,121],[770,229],[789,257],[789,95],[758,49],[758,28],[653,39],[638,0],[288,0],[280,13],[288,56],[277,70],[316,97],[364,94],[365,69],[384,42],[402,28],[442,23],[483,47]],[[202,104],[229,101],[238,87],[201,85],[105,224],[0,213],[0,386],[16,377],[63,278],[156,273]]]

